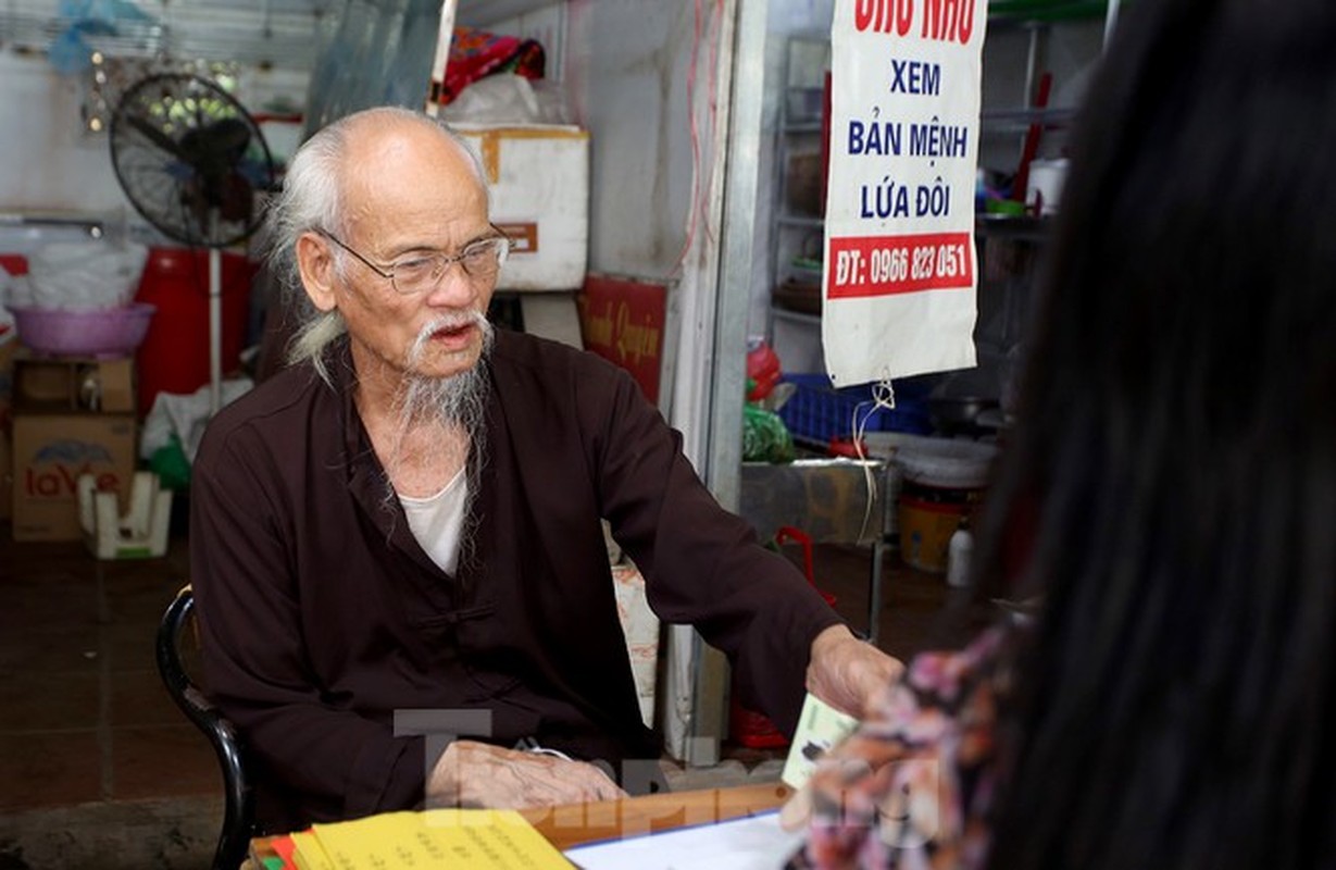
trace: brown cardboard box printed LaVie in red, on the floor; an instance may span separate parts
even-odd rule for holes
[[[132,413],[28,413],[13,417],[13,540],[77,541],[77,480],[96,477],[128,506],[135,473]]]

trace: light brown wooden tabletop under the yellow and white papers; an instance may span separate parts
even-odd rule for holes
[[[605,839],[637,837],[693,825],[708,825],[779,809],[792,794],[780,782],[727,788],[665,791],[620,801],[533,807],[520,814],[560,850]],[[269,837],[251,843],[251,859],[242,870],[257,870],[258,855],[273,855]]]

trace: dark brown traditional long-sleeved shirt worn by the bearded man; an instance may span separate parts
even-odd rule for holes
[[[192,470],[204,676],[267,830],[418,806],[445,746],[429,730],[615,771],[657,758],[600,517],[659,617],[696,625],[743,700],[792,730],[811,640],[839,620],[715,502],[628,374],[498,331],[474,553],[450,576],[387,493],[346,345],[331,353],[334,389],[310,366],[266,381],[211,421]]]

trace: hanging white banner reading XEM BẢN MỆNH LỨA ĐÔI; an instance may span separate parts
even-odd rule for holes
[[[838,386],[975,365],[987,0],[836,0],[822,343]]]

